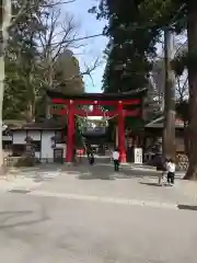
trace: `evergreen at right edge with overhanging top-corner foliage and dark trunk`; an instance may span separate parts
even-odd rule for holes
[[[184,54],[178,64],[176,61],[176,72],[182,73],[186,68],[188,70],[188,159],[189,168],[186,173],[186,179],[197,179],[197,2],[192,0],[155,0],[144,1],[141,7],[147,19],[169,25],[170,30],[181,32],[187,30],[188,52]],[[157,10],[157,12],[155,12]],[[172,23],[173,22],[173,23]]]

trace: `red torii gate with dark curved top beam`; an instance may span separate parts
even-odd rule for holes
[[[56,111],[56,114],[68,115],[68,132],[67,132],[67,155],[66,162],[71,162],[74,147],[74,116],[105,116],[118,117],[118,149],[120,161],[126,162],[126,146],[125,146],[125,117],[142,117],[143,95],[147,89],[134,91],[129,93],[84,93],[84,94],[63,94],[48,90],[47,95],[54,104],[63,105],[63,110]],[[79,105],[93,105],[93,111],[86,112],[82,108],[77,108]],[[125,110],[124,106],[132,105],[134,110]],[[115,110],[103,113],[100,106],[114,106]]]

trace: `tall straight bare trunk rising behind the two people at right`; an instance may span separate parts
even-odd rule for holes
[[[174,57],[174,35],[170,28],[164,30],[164,127],[163,127],[163,157],[175,158],[175,75],[171,68]]]

